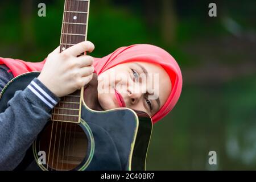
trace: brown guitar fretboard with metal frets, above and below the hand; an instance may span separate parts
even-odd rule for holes
[[[60,52],[86,40],[88,15],[89,0],[65,0]],[[82,88],[69,96],[62,97],[52,110],[52,121],[78,123],[83,90]]]

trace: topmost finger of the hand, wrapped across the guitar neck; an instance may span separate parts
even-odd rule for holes
[[[85,51],[92,52],[93,49],[94,49],[94,44],[89,41],[85,41],[85,42],[78,43],[75,46],[69,47],[65,49],[65,51],[63,52],[67,53],[68,55],[78,56],[81,53],[84,53]]]

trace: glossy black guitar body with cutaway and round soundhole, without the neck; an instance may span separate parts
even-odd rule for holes
[[[24,73],[2,90],[0,111],[40,72]],[[86,96],[85,96],[86,97]],[[144,170],[152,120],[128,108],[95,111],[83,98],[79,123],[48,121],[17,170]]]

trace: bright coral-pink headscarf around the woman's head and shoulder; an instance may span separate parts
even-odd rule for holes
[[[121,47],[115,50],[110,55],[102,58],[94,58],[94,68],[98,75],[105,72],[115,65],[128,63],[131,61],[144,61],[147,63],[154,63],[161,65],[168,73],[172,90],[166,103],[160,110],[152,117],[153,123],[158,122],[166,116],[175,106],[180,97],[182,88],[182,75],[179,65],[168,52],[164,49],[152,46],[149,44],[135,44],[129,47]],[[10,68],[14,77],[31,71],[41,71],[46,60],[39,63],[31,63],[22,60],[4,59],[0,57],[0,64],[6,64]]]

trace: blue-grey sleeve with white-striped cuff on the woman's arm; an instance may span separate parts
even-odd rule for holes
[[[0,65],[0,92],[12,78],[8,68]],[[38,78],[34,78],[23,91],[15,92],[7,109],[0,113],[0,170],[12,170],[18,166],[59,101],[60,98]]]

